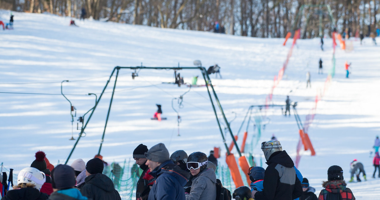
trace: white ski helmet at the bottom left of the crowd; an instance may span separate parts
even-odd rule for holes
[[[36,189],[40,191],[42,185],[46,181],[45,173],[34,167],[27,167],[22,169],[17,175],[17,185],[21,183],[31,183],[36,186]]]

